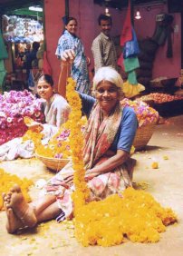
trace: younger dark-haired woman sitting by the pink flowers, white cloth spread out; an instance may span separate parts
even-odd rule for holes
[[[43,143],[47,143],[53,134],[58,132],[58,128],[67,121],[71,108],[63,96],[54,93],[53,78],[49,74],[43,74],[39,78],[37,94],[45,100],[42,104],[44,124],[28,118],[29,122],[26,125],[30,130],[42,132]],[[2,161],[14,160],[17,157],[31,158],[34,155],[34,143],[30,140],[23,142],[20,137],[14,138],[1,145],[0,150]]]

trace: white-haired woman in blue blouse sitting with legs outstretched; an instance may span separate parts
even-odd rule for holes
[[[130,158],[130,148],[138,122],[130,107],[120,105],[121,86],[120,74],[111,67],[102,67],[93,79],[96,99],[81,94],[82,111],[90,114],[84,133],[83,156],[91,200],[104,199],[132,186],[135,161]],[[3,195],[7,231],[14,233],[39,222],[54,218],[59,222],[71,217],[73,190],[71,162],[45,185],[43,197],[35,202],[25,202],[20,188],[15,185]]]

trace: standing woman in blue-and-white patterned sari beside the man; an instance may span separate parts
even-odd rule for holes
[[[81,39],[76,35],[77,20],[73,17],[65,19],[65,30],[59,39],[56,55],[62,60],[65,50],[73,50],[75,58],[72,63],[72,78],[76,81],[76,90],[83,94],[90,94],[91,84],[89,80],[86,56]]]

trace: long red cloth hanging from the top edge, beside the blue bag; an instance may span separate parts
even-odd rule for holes
[[[131,26],[131,18],[130,18],[130,0],[129,0],[126,19],[120,35],[120,45],[123,46],[126,42],[130,41],[131,39],[132,39],[132,26]]]

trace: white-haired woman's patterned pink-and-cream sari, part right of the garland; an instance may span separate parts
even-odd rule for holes
[[[99,104],[93,107],[88,128],[85,132],[85,147],[83,150],[86,170],[106,161],[109,157],[109,150],[114,141],[115,135],[120,126],[122,109],[117,105],[113,113],[105,119],[101,118]],[[120,192],[131,186],[132,166],[131,162],[123,163],[121,166],[94,177],[88,185],[93,194],[100,198],[115,192]],[[129,167],[129,168],[128,168]]]

